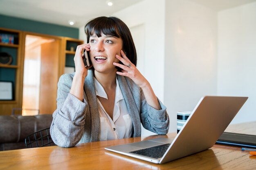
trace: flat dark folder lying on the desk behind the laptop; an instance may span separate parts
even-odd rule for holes
[[[216,144],[256,148],[256,135],[224,132]]]

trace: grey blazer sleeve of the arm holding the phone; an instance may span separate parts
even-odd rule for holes
[[[70,94],[72,76],[64,74],[59,78],[57,109],[53,113],[50,133],[54,143],[61,147],[75,146],[83,136],[85,113],[88,103],[81,102]]]

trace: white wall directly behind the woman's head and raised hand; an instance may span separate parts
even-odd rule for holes
[[[139,44],[136,46],[137,68],[161,101],[164,100],[164,5],[165,0],[158,0],[157,3],[155,0],[144,0],[112,15],[130,28],[135,45]],[[143,42],[144,45],[141,44]],[[153,134],[142,127],[141,136]]]

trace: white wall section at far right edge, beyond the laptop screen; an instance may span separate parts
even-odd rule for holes
[[[256,120],[256,2],[218,12],[218,95],[249,96],[231,123]]]

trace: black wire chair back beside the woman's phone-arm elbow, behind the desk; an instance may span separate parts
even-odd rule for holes
[[[44,146],[55,146],[50,135],[50,128],[45,128],[35,133],[31,133],[25,138],[27,148],[38,148]]]

